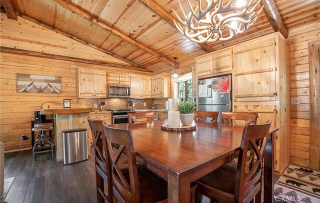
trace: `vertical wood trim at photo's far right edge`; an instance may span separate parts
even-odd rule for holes
[[[310,151],[309,167],[320,169],[320,41],[309,42]]]

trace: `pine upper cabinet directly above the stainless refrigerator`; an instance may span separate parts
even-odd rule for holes
[[[195,58],[195,75],[204,77],[210,74],[232,70],[232,48],[215,51]]]

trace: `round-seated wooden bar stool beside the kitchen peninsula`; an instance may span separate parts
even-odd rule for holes
[[[35,139],[34,144],[32,146],[33,161],[35,161],[37,153],[45,153],[45,152],[49,152],[49,151],[51,151],[52,161],[54,161],[54,159],[53,159],[53,139],[51,136],[46,137],[46,135],[45,135],[45,131],[52,130],[52,129],[53,129],[53,124],[50,122],[37,123],[37,124],[34,124],[34,126],[32,127],[31,130],[33,132],[38,133],[38,136]],[[48,143],[49,145],[45,145],[46,143]]]

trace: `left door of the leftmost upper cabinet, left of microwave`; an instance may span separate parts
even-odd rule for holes
[[[91,70],[78,70],[78,96],[94,96],[94,72]]]

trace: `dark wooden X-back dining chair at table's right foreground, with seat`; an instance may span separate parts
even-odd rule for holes
[[[261,202],[262,160],[270,125],[268,120],[265,124],[244,126],[237,166],[226,163],[198,179],[198,201],[205,195],[211,202],[250,202],[253,198]],[[251,148],[253,152],[247,159]]]

